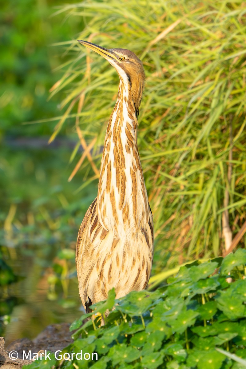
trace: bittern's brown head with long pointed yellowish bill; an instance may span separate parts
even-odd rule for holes
[[[105,49],[88,41],[78,41],[103,56],[117,70],[123,83],[128,83],[131,99],[135,105],[136,114],[138,114],[145,85],[145,73],[141,60],[134,52],[127,49]]]

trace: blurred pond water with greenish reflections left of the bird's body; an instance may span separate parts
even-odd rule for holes
[[[0,268],[8,272],[10,267],[13,277],[0,278],[0,335],[6,344],[82,315],[75,243],[97,193],[97,181],[84,185],[91,177],[89,166],[67,181],[81,152],[71,162],[65,144],[43,148],[28,142],[1,148]]]

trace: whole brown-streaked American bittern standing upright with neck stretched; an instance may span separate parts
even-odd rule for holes
[[[153,261],[153,217],[137,145],[145,84],[142,62],[126,49],[79,42],[103,56],[119,75],[118,98],[105,134],[96,199],[80,226],[76,266],[86,312],[115,288],[116,298],[146,288]],[[103,98],[103,95],[102,95]]]

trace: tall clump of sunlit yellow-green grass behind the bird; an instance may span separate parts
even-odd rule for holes
[[[77,112],[77,132],[87,143],[97,138],[99,168],[118,76],[76,39],[134,51],[147,82],[138,140],[155,223],[154,270],[222,255],[223,211],[233,235],[246,217],[245,3],[85,1],[58,12],[83,17],[86,26],[60,44],[70,62],[52,95],[66,92],[66,113],[51,139]]]

